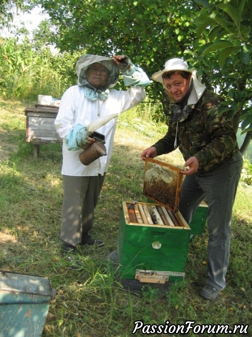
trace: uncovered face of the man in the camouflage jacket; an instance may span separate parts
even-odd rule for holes
[[[171,98],[176,102],[180,102],[188,92],[190,79],[191,76],[185,79],[180,74],[174,73],[171,78],[164,78],[164,88]]]

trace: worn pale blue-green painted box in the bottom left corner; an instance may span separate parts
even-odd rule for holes
[[[0,337],[40,337],[53,289],[47,277],[0,273]]]

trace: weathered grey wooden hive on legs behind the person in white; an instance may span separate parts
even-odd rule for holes
[[[33,144],[33,156],[39,157],[39,145],[62,143],[54,122],[58,106],[35,105],[24,109],[26,116],[26,142]]]

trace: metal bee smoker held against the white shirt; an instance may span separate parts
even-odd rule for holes
[[[107,155],[106,147],[104,145],[104,135],[94,131],[90,137],[94,138],[96,141],[79,154],[80,162],[86,166],[93,163],[99,157]]]

